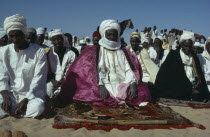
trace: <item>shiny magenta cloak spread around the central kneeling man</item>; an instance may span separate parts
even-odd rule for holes
[[[139,105],[151,99],[149,89],[142,82],[141,65],[137,57],[127,48],[128,55],[134,65],[134,74],[138,80],[138,98],[125,99],[126,104]],[[61,87],[60,97],[68,103],[82,101],[95,106],[116,107],[119,101],[110,96],[107,99],[100,98],[98,87],[98,72],[96,63],[96,46],[88,46],[69,68]],[[122,52],[123,53],[123,52]]]

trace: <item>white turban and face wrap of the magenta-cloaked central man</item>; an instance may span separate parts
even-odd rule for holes
[[[115,29],[118,32],[118,41],[110,41],[106,38],[105,32],[109,29]],[[121,47],[121,42],[120,42],[120,32],[121,28],[120,25],[117,21],[109,19],[109,20],[104,20],[102,21],[99,32],[101,34],[101,39],[99,40],[99,45],[106,49],[110,50],[117,50]]]

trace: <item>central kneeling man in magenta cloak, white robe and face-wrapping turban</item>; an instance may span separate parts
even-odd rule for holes
[[[120,25],[101,23],[99,46],[85,48],[69,68],[59,98],[95,106],[138,106],[151,99],[137,57],[120,43]]]

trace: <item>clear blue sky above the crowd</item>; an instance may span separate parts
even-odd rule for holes
[[[134,29],[175,27],[210,36],[210,0],[1,0],[0,27],[6,17],[21,14],[28,27],[62,29],[78,37],[92,36],[105,19],[132,19]]]

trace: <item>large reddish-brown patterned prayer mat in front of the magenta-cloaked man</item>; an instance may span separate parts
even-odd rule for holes
[[[204,126],[193,123],[169,107],[151,103],[147,106],[118,108],[76,103],[57,109],[53,128],[79,129],[82,127],[87,130],[104,131],[110,131],[113,128],[119,130],[185,129],[188,127],[205,129]]]

